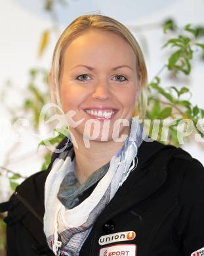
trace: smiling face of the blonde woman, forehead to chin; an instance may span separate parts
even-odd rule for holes
[[[115,121],[130,121],[133,116],[137,72],[134,51],[119,35],[90,30],[71,41],[64,52],[60,96],[65,114],[74,110],[73,121],[83,119],[75,128],[70,127],[75,137],[110,141],[118,137],[114,125],[119,128],[119,137],[129,134],[130,127]],[[98,120],[100,127],[90,126],[91,118]]]

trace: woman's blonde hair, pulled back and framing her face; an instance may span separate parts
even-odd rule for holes
[[[52,56],[52,67],[51,67],[51,98],[54,104],[57,104],[62,108],[60,99],[60,74],[62,73],[62,64],[64,52],[68,43],[73,41],[77,36],[81,35],[92,29],[104,30],[107,32],[112,32],[129,43],[136,54],[136,70],[138,72],[138,77],[141,77],[140,83],[140,94],[138,96],[137,102],[135,102],[135,108],[133,116],[139,116],[140,119],[146,116],[147,100],[148,100],[148,75],[146,69],[146,63],[144,56],[138,45],[138,42],[134,38],[133,34],[120,22],[104,16],[102,14],[86,14],[81,15],[75,20],[73,20],[70,25],[62,32],[60,38],[58,39],[56,46],[54,48],[54,53]]]

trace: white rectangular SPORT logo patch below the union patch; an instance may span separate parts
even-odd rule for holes
[[[136,244],[117,244],[100,249],[99,256],[136,256]]]

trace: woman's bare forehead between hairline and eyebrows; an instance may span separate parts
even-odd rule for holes
[[[73,64],[88,65],[104,63],[129,64],[136,63],[135,53],[125,39],[113,33],[101,30],[91,30],[73,39],[64,51],[66,66]]]

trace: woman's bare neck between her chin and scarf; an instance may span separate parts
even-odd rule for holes
[[[77,140],[76,148],[73,145],[75,152],[75,167],[74,172],[80,184],[94,173],[98,168],[102,167],[112,159],[115,153],[121,149],[125,141],[90,141],[90,147],[86,148],[83,138],[73,133]]]

